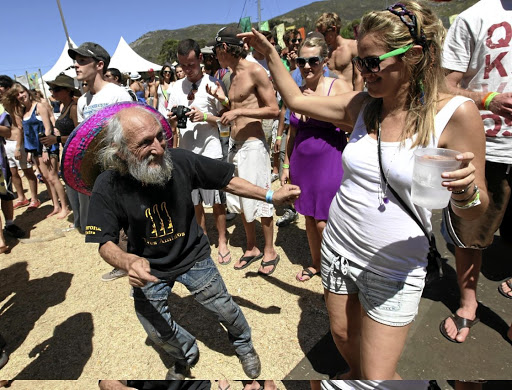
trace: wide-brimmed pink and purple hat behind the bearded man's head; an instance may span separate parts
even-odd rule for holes
[[[167,120],[153,107],[139,102],[122,102],[106,106],[76,127],[68,137],[62,152],[62,177],[67,185],[86,195],[91,195],[94,181],[102,169],[96,161],[97,151],[104,137],[103,129],[119,111],[141,107],[155,114],[172,145],[172,130]]]

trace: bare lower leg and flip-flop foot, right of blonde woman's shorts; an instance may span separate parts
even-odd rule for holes
[[[455,264],[457,268],[457,282],[460,290],[460,307],[456,313],[460,317],[474,320],[478,302],[476,300],[476,286],[480,267],[482,265],[482,251],[476,249],[455,248]],[[448,318],[444,327],[450,338],[459,342],[466,340],[468,328],[463,328],[457,334],[457,327],[451,318]]]

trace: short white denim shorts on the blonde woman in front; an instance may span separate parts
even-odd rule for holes
[[[389,326],[405,326],[416,317],[425,281],[393,280],[366,270],[322,243],[322,284],[333,294],[358,294],[368,316]]]

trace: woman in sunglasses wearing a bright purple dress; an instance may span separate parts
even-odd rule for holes
[[[304,94],[329,96],[347,92],[347,86],[341,80],[324,77],[327,44],[322,38],[306,39],[299,54],[297,65],[305,83],[302,87]],[[295,208],[306,217],[312,259],[312,265],[297,274],[296,279],[300,282],[320,274],[322,232],[332,198],[340,188],[343,176],[341,153],[345,144],[345,132],[332,123],[290,114],[281,182],[291,181],[300,186],[301,195]]]

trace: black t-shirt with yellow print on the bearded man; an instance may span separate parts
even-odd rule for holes
[[[117,171],[102,172],[94,183],[85,238],[117,244],[124,229],[128,252],[148,259],[151,273],[160,279],[174,279],[210,255],[190,193],[195,188],[226,187],[235,169],[183,149],[170,153],[172,178],[165,187],[143,186]]]

